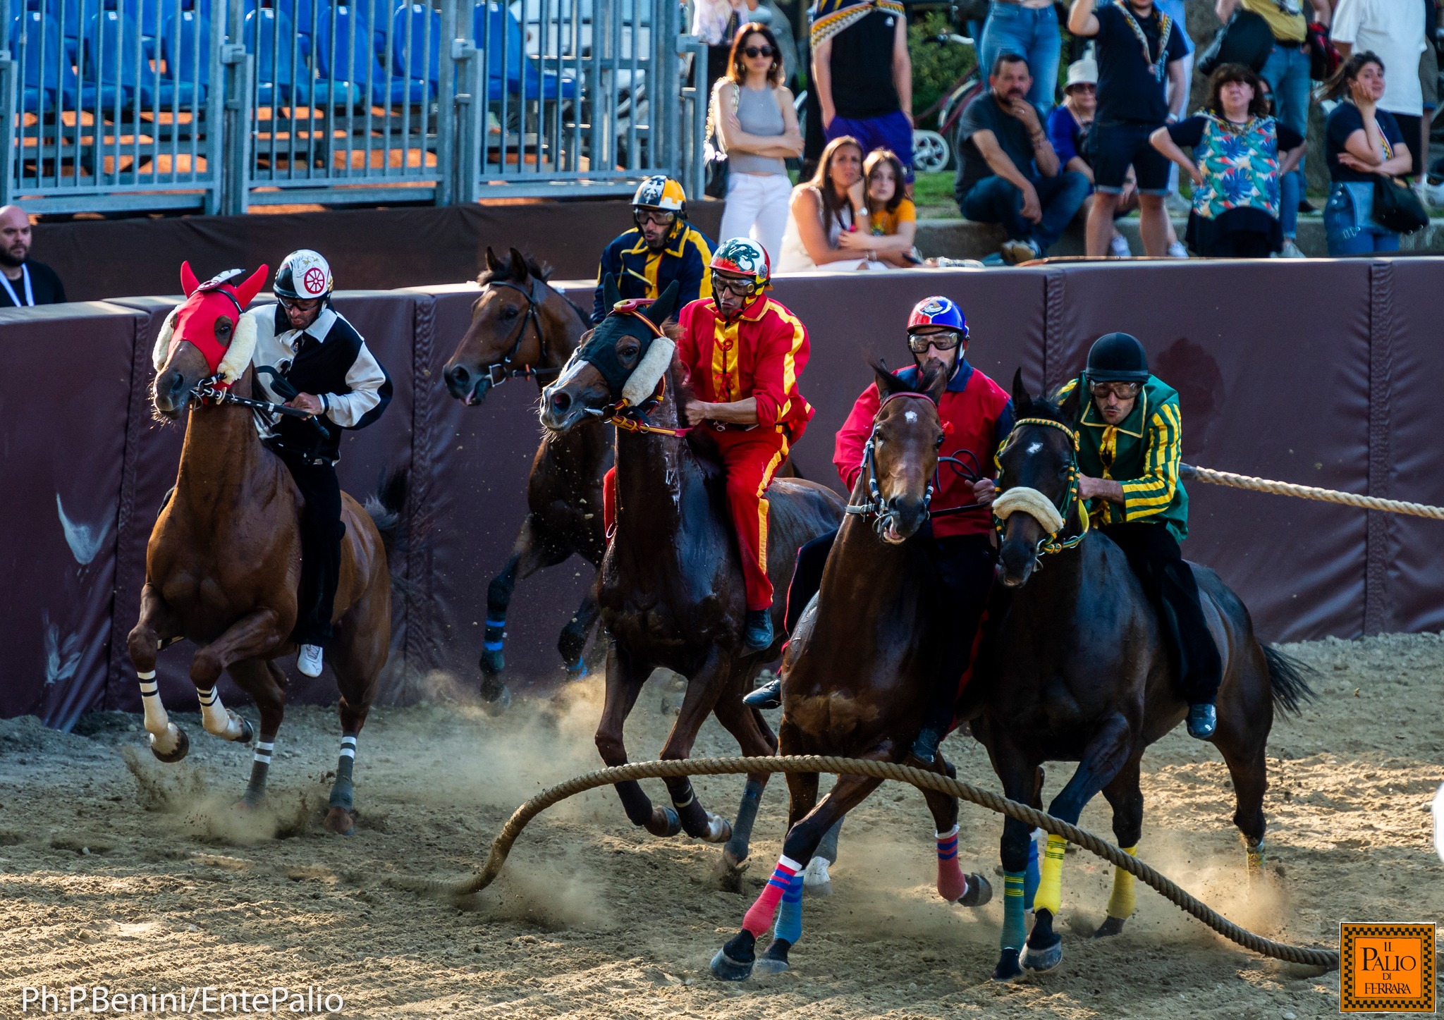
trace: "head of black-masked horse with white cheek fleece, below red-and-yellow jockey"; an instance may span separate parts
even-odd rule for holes
[[[657,390],[676,345],[661,325],[677,309],[673,281],[656,302],[622,302],[608,276],[602,294],[612,309],[542,391],[542,424],[566,431],[578,421],[604,417],[611,407],[638,407]],[[625,401],[625,404],[622,404]]]

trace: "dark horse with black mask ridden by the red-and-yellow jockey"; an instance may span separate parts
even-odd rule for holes
[[[608,307],[619,300],[611,277],[604,294]],[[693,450],[702,430],[680,434],[687,431],[679,424],[686,371],[674,364],[674,343],[663,329],[676,304],[673,283],[654,303],[615,309],[542,394],[542,424],[553,431],[586,427],[599,417],[618,423],[615,534],[598,579],[602,625],[612,643],[596,747],[609,766],[627,762],[622,727],[657,667],[687,678],[661,757],[687,757],[713,711],[744,755],[771,755],[777,747],[761,713],[741,698],[781,641],[760,654],[742,643],[747,596],[725,478],[716,462]],[[767,496],[767,570],[775,590],[786,593],[797,548],[838,527],[842,499],[793,479],[774,479]],[[778,597],[777,622],[781,613]],[[654,835],[686,831],[722,843],[731,834],[723,856],[736,864],[747,857],[765,782],[765,775],[748,776],[735,827],[705,811],[686,778],[666,781],[673,806],[653,806],[635,782],[618,783],[617,792],[632,824]]]

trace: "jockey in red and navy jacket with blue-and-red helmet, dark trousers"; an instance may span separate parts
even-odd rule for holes
[[[953,638],[939,674],[933,708],[913,744],[913,753],[918,759],[931,762],[937,744],[952,729],[953,705],[966,682],[979,623],[992,589],[996,553],[992,547],[992,512],[988,505],[992,504],[995,489],[993,452],[1012,431],[1014,413],[1012,400],[1002,387],[967,364],[967,322],[962,309],[950,299],[934,296],[918,302],[908,317],[907,333],[914,364],[898,369],[897,375],[915,382],[920,366],[928,359],[953,366],[947,391],[937,405],[947,436],[939,453],[956,457],[959,465],[966,465],[978,475],[976,479],[967,478],[949,463],[941,463],[933,512],[970,504],[976,504],[978,509],[937,516],[920,532],[923,541],[933,542],[944,597],[952,603],[947,616],[956,623],[950,628]],[[878,407],[878,387],[874,382],[858,397],[846,424],[838,431],[832,460],[848,491],[862,473],[862,449],[872,433]],[[787,594],[788,632],[822,583],[822,568],[836,537],[838,532],[832,532],[814,538],[797,553],[797,567]],[[780,703],[780,688],[773,688],[771,684],[758,688],[745,701],[767,707],[777,697]]]

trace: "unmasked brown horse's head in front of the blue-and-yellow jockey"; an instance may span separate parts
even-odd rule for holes
[[[446,390],[466,405],[513,372],[543,365],[542,306],[550,270],[516,248],[505,260],[487,248],[487,270],[477,277],[481,297],[471,306],[471,325],[442,369]]]

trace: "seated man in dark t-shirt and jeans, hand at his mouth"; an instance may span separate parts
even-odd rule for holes
[[[1028,61],[1002,52],[988,75],[988,91],[967,104],[957,124],[957,180],[953,198],[963,216],[1002,224],[1002,257],[1011,265],[1038,258],[1073,222],[1089,180],[1063,170],[1038,108],[1028,102]]]

